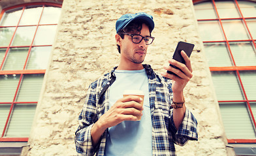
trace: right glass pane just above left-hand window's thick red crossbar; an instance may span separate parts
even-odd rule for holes
[[[33,47],[31,49],[27,70],[45,70],[52,47]]]

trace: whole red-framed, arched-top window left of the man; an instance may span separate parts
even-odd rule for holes
[[[0,140],[26,142],[61,12],[31,3],[0,14]]]

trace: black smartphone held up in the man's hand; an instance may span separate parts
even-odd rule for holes
[[[185,60],[183,59],[181,52],[182,52],[182,50],[185,51],[185,53],[187,54],[187,57],[190,57],[190,55],[194,49],[194,46],[195,46],[194,44],[189,44],[187,42],[182,42],[182,41],[178,42],[178,45],[174,51],[172,59],[185,64]],[[173,66],[172,64],[170,64],[170,66],[172,66],[173,68],[179,69],[178,67]],[[170,72],[168,70],[167,70],[167,73],[176,75],[176,73]],[[176,76],[178,76],[178,75],[176,75]]]

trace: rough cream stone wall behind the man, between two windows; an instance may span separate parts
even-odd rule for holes
[[[228,155],[219,107],[190,0],[65,0],[52,57],[22,155],[76,155],[74,132],[91,82],[118,65],[115,23],[125,13],[152,14],[155,40],[144,63],[157,72],[178,41],[195,44],[193,78],[185,88],[187,107],[199,122],[199,141],[177,148],[178,155]],[[232,151],[229,155],[233,155]]]

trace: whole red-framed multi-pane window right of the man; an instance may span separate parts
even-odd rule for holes
[[[256,143],[256,3],[193,1],[229,143]]]

